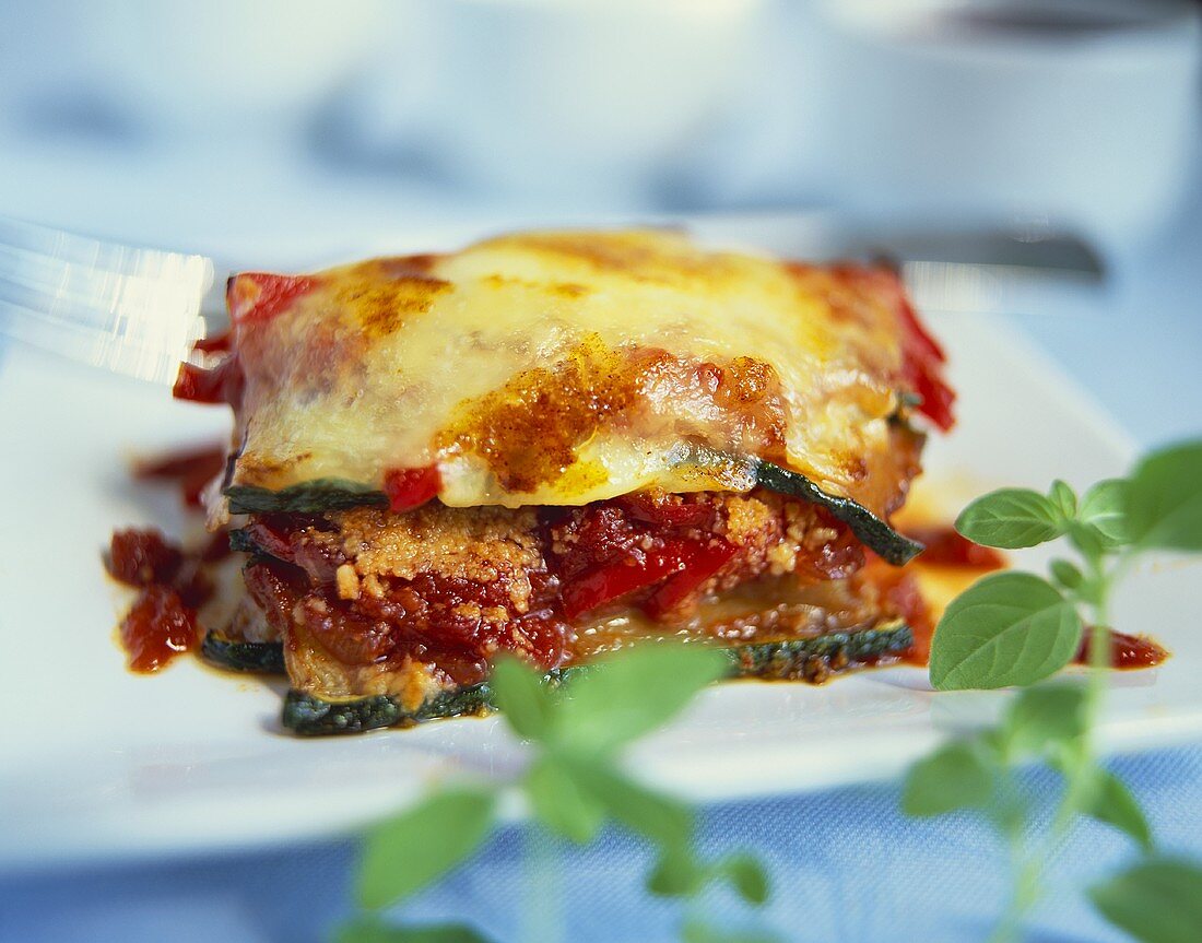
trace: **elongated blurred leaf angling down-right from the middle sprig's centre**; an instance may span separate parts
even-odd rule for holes
[[[595,757],[565,753],[559,759],[581,792],[603,806],[611,818],[664,849],[688,848],[694,828],[688,805],[639,786]]]

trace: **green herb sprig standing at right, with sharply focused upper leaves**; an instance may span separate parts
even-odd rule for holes
[[[1186,943],[1202,927],[1202,867],[1162,857],[1139,804],[1096,759],[1094,727],[1109,664],[1109,599],[1148,551],[1202,551],[1202,441],[1144,458],[1127,478],[1099,482],[1078,500],[1064,482],[1047,494],[1005,488],[977,499],[956,521],[971,541],[1006,549],[1064,539],[1077,560],[1058,557],[1049,578],[988,575],[945,610],[930,649],[940,691],[1023,687],[999,726],[954,740],[917,763],[902,805],[911,816],[983,814],[1011,844],[1010,906],[992,937],[1017,939],[1042,884],[1043,861],[1078,816],[1126,834],[1143,860],[1090,889],[1097,911],[1147,943]],[[1088,680],[1043,682],[1090,637]],[[1018,769],[1043,762],[1064,790],[1052,828],[1031,849],[1030,802]]]

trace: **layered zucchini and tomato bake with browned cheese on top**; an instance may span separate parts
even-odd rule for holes
[[[914,650],[922,547],[889,519],[953,394],[888,268],[535,232],[227,300],[174,393],[233,408],[188,473],[245,595],[196,631],[282,661],[287,726],[474,710],[506,652],[555,678],[671,637],[819,681]],[[139,553],[138,604],[195,621],[184,563]]]

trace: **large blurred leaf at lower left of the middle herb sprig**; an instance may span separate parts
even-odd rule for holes
[[[435,793],[365,837],[356,878],[359,903],[386,907],[468,859],[488,837],[496,798],[483,789]]]

